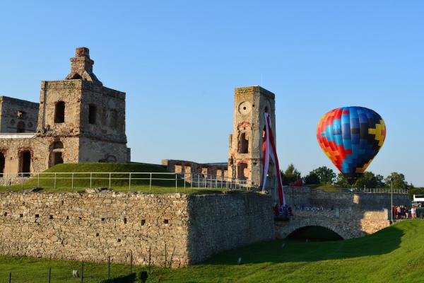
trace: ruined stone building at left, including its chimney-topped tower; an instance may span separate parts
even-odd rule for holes
[[[1,96],[1,173],[130,160],[125,93],[103,86],[93,64],[88,48],[77,48],[64,80],[41,82],[40,103]]]

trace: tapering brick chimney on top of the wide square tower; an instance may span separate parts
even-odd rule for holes
[[[93,74],[94,61],[90,59],[90,50],[87,47],[78,47],[75,57],[71,58],[71,73],[66,79],[83,79],[100,82]]]

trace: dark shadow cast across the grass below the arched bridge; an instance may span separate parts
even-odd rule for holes
[[[404,227],[404,226],[402,226]],[[404,229],[397,225],[362,238],[343,241],[305,242],[276,240],[220,253],[203,264],[237,265],[262,262],[314,262],[391,253],[400,247]]]

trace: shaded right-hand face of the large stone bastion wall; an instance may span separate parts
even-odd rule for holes
[[[203,195],[192,196],[190,200],[190,263],[223,250],[275,238],[268,195]]]

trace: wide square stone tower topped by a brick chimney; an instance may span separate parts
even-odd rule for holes
[[[58,147],[52,148],[49,166],[130,160],[125,93],[103,86],[93,64],[88,48],[76,48],[66,79],[41,83],[37,136],[51,137]]]

